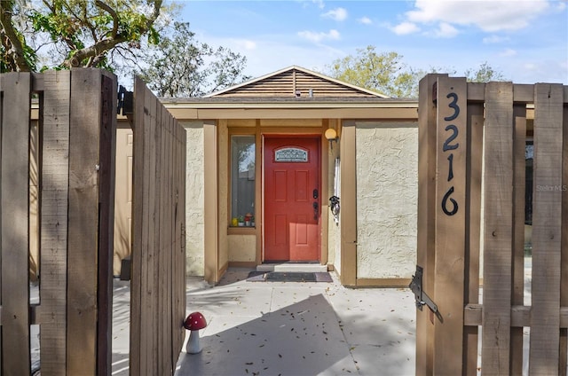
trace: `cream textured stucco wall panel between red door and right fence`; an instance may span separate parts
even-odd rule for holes
[[[357,278],[411,278],[416,262],[417,124],[357,123],[356,145]]]

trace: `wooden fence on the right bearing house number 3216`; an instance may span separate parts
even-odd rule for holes
[[[532,271],[525,269],[525,209],[533,214]],[[424,77],[416,373],[565,375],[566,229],[568,87]]]

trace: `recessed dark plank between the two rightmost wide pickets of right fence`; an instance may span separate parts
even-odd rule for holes
[[[525,304],[525,149],[526,105],[513,106],[513,260],[511,304]],[[523,374],[523,328],[510,333],[510,372]]]

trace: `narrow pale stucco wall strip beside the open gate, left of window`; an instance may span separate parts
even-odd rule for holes
[[[188,276],[203,276],[204,262],[204,164],[203,124],[180,121],[186,134],[185,157],[185,270]]]

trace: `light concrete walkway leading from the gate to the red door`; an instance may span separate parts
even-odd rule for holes
[[[334,282],[249,282],[229,269],[218,286],[187,284],[187,313],[207,319],[200,354],[180,354],[176,375],[414,375],[415,307],[407,289]],[[118,287],[118,288],[117,288]],[[115,286],[114,317],[127,287]],[[118,320],[121,321],[121,320]],[[113,374],[128,374],[128,323],[114,324]]]

